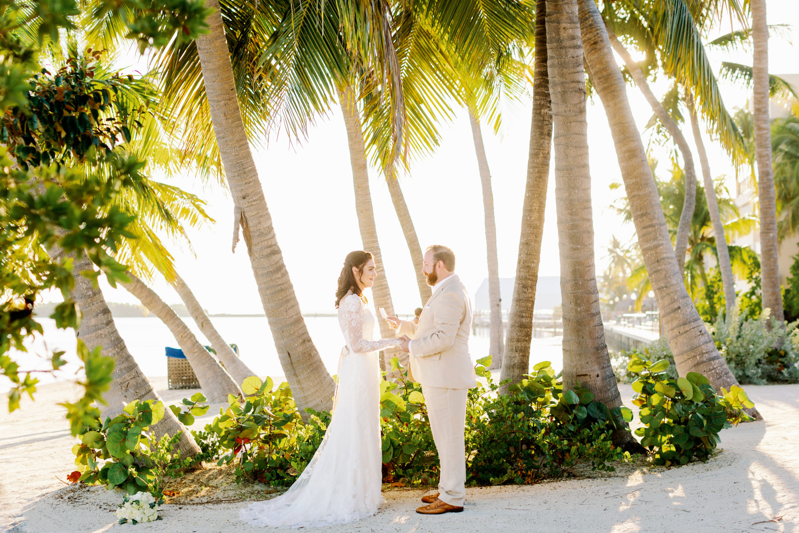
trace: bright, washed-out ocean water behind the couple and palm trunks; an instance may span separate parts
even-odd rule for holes
[[[201,344],[210,344],[190,317],[185,317],[183,320]],[[48,350],[63,350],[65,354],[62,357],[68,364],[62,367],[58,375],[37,373],[37,376],[42,383],[74,379],[79,368],[79,360],[75,352],[76,340],[73,330],[56,328],[55,321],[49,318],[39,321],[42,323],[44,334],[37,334],[32,342],[26,344],[28,352],[12,352],[12,357],[18,362],[20,370],[45,370],[48,368],[48,362],[42,356],[48,353]],[[211,321],[223,339],[238,345],[241,359],[259,376],[273,376],[280,379],[284,376],[265,316],[212,316]],[[164,348],[167,346],[179,348],[169,328],[155,316],[115,317],[114,322],[145,376],[166,376]],[[305,318],[305,324],[308,325],[308,332],[328,372],[336,373],[339,353],[344,346],[344,337],[341,335],[338,319],[335,316],[308,316]],[[549,360],[555,371],[559,371],[562,368],[561,339],[562,337],[533,339],[531,366],[539,361]],[[478,328],[469,341],[472,359],[477,360],[487,356],[488,348],[487,329]],[[8,380],[0,376],[0,391],[8,388]]]

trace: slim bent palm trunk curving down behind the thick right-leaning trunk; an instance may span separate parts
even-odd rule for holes
[[[638,63],[633,61],[630,53],[622,46],[622,43],[618,42],[618,38],[616,38],[616,34],[613,33],[613,30],[610,30],[610,28],[606,30],[608,38],[610,38],[610,45],[613,46],[616,53],[622,57],[638,89],[641,89],[641,92],[644,97],[646,97],[646,101],[652,107],[655,115],[660,119],[662,124],[666,126],[666,130],[668,130],[674,142],[677,143],[680,153],[682,153],[682,161],[684,161],[686,165],[686,195],[685,199],[682,201],[682,214],[680,215],[680,224],[677,226],[677,238],[674,240],[674,257],[677,257],[677,264],[682,272],[682,268],[686,262],[688,233],[690,233],[691,230],[691,220],[694,218],[694,208],[696,207],[697,176],[696,169],[694,168],[694,156],[677,122],[670,117],[662,103],[660,103],[658,98],[652,93],[652,89],[650,89],[649,83],[646,82],[646,76],[644,76],[641,67],[638,66]]]

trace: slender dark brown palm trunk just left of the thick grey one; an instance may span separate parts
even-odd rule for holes
[[[530,343],[533,337],[535,286],[539,280],[544,208],[547,206],[550,154],[552,147],[552,105],[547,73],[547,0],[535,3],[535,66],[533,114],[530,124],[530,152],[527,156],[527,184],[524,188],[522,231],[511,312],[507,318],[507,341],[500,380],[519,383],[530,372]],[[500,389],[507,394],[507,386]]]

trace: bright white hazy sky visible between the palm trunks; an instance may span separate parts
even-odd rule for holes
[[[793,41],[799,38],[799,2],[769,0],[769,24],[790,24]],[[729,24],[718,28],[716,35],[729,32]],[[715,35],[714,35],[715,36]],[[713,36],[713,37],[714,37]],[[769,42],[769,71],[772,74],[799,72],[797,50],[783,38]],[[752,64],[747,53],[711,52],[714,69],[721,61]],[[620,62],[620,61],[619,61]],[[621,62],[620,62],[621,63]],[[143,63],[141,70],[143,69]],[[668,88],[662,79],[654,84],[661,95]],[[729,109],[745,105],[745,89],[721,82],[725,104]],[[638,89],[627,90],[638,129],[652,115]],[[605,261],[603,247],[610,237],[627,241],[633,235],[631,225],[622,221],[608,206],[622,196],[623,189],[610,190],[609,185],[621,181],[614,145],[610,137],[604,109],[598,97],[589,102],[589,146],[594,201],[594,239],[598,270]],[[519,224],[527,169],[527,146],[530,137],[531,102],[523,101],[515,113],[504,116],[503,131],[495,136],[483,128],[488,163],[491,167],[495,201],[495,220],[499,249],[499,276],[515,276],[519,246]],[[461,109],[451,125],[441,128],[443,140],[435,155],[419,161],[411,172],[400,178],[419,241],[424,248],[431,244],[450,246],[457,257],[457,273],[470,292],[475,292],[487,276],[483,197],[480,187],[474,144],[468,115]],[[690,126],[684,128],[691,142]],[[647,139],[645,134],[645,142]],[[718,145],[705,138],[714,177],[731,176],[733,169]],[[301,143],[289,143],[286,136],[273,140],[254,152],[260,181],[277,239],[283,250],[287,276],[291,276],[304,312],[333,312],[333,293],[344,256],[361,249],[355,212],[347,136],[338,109],[328,117],[320,117]],[[663,161],[660,169],[666,175],[666,152],[656,152]],[[542,246],[540,275],[559,275],[558,237],[555,225],[554,162],[551,165],[547,196],[546,222]],[[697,172],[701,169],[698,167]],[[189,229],[197,257],[185,245],[173,245],[177,270],[210,312],[261,313],[263,308],[256,291],[244,243],[231,253],[233,201],[218,185],[202,185],[197,177],[185,175],[170,181],[189,190],[209,203],[209,213],[216,224]],[[400,224],[392,207],[385,182],[374,169],[371,172],[372,201],[375,209],[380,247],[396,312],[412,312],[419,305],[414,272]],[[729,182],[733,190],[733,182]],[[163,280],[154,280],[153,287],[168,303],[180,299]],[[104,284],[109,301],[138,303],[125,289]]]

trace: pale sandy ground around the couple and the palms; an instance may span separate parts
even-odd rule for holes
[[[163,378],[153,378],[153,384],[165,388]],[[629,399],[630,386],[619,387]],[[457,515],[417,515],[419,497],[429,490],[387,490],[377,515],[320,531],[797,531],[799,385],[746,390],[765,422],[721,432],[722,451],[707,463],[672,469],[626,464],[590,479],[474,487],[467,490],[465,511]],[[163,520],[117,526],[113,511],[121,491],[68,486],[57,479],[66,481],[74,470],[70,449],[76,442],[58,402],[78,392],[70,382],[47,384],[35,402],[23,400],[22,409],[0,414],[0,496],[5,502],[0,525],[5,531],[264,531],[238,520],[246,502],[213,503],[231,495],[263,494],[252,485],[247,491],[235,487],[232,479],[224,493],[212,483],[209,489],[217,495],[208,499],[165,504]],[[160,391],[168,403],[177,403],[187,392]],[[205,425],[214,412],[218,409],[211,408],[195,425]]]

